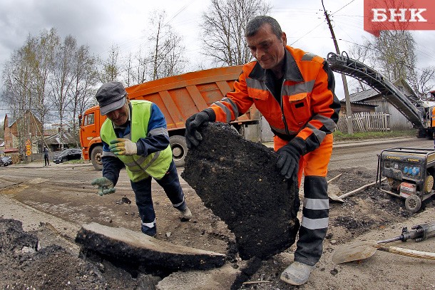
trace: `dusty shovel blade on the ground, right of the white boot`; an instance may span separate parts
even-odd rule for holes
[[[372,257],[377,251],[377,242],[354,242],[344,245],[344,247],[335,250],[332,255],[332,261],[335,264],[347,263],[348,261],[358,261]]]

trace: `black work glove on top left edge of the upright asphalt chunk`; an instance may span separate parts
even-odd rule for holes
[[[186,120],[185,138],[189,149],[198,146],[200,141],[203,140],[203,136],[198,132],[198,128],[205,122],[215,122],[215,120],[216,115],[212,108],[206,108],[200,111],[200,113],[191,115],[188,120]]]

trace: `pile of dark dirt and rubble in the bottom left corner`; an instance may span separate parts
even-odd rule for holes
[[[155,289],[161,280],[92,259],[76,257],[56,244],[39,249],[36,233],[24,232],[18,220],[0,218],[1,289]]]

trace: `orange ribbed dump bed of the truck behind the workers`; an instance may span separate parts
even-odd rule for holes
[[[232,90],[232,85],[242,72],[242,66],[212,68],[184,73],[179,76],[159,78],[126,88],[131,100],[150,100],[158,105],[166,118],[168,130],[185,128],[185,120],[221,100]],[[243,123],[259,120],[260,113],[251,108],[237,118]]]

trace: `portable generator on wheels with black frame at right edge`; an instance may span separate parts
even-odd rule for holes
[[[409,212],[418,212],[421,202],[434,195],[435,150],[393,147],[378,154],[377,188],[405,199]],[[387,177],[389,190],[382,188]]]

